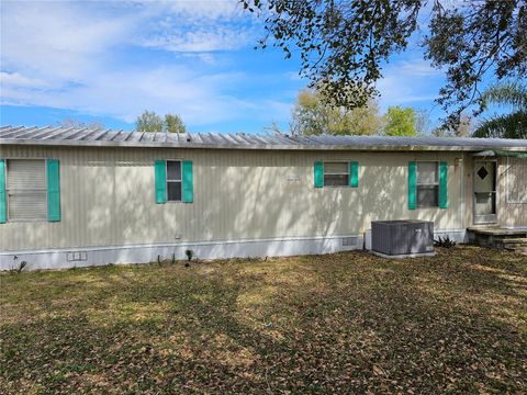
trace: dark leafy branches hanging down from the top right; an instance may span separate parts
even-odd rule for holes
[[[483,77],[527,74],[526,0],[240,0],[265,20],[259,46],[298,48],[300,74],[321,81],[338,105],[357,108],[375,93],[381,65],[408,46],[419,31],[425,57],[446,70],[438,102],[450,112],[447,124],[478,101]],[[421,18],[421,19],[419,19]],[[428,21],[421,29],[418,21]],[[365,89],[365,87],[367,87]],[[357,94],[348,94],[358,89]]]

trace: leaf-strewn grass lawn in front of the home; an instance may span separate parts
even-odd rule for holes
[[[0,393],[526,393],[527,257],[0,275]]]

